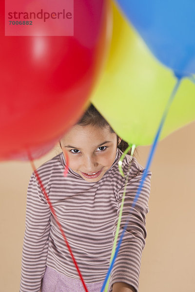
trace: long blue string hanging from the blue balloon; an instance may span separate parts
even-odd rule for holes
[[[163,115],[162,115],[162,118],[161,118],[161,121],[160,121],[159,127],[158,127],[157,132],[156,132],[156,136],[155,136],[155,139],[154,139],[153,145],[152,145],[151,150],[150,150],[150,154],[149,154],[149,157],[148,157],[148,161],[147,161],[147,163],[146,163],[146,167],[145,167],[145,169],[144,169],[144,171],[143,171],[143,176],[142,176],[141,182],[140,182],[140,184],[139,184],[139,187],[138,187],[138,189],[137,189],[136,196],[135,196],[135,198],[134,198],[134,201],[133,201],[132,206],[131,206],[131,209],[130,209],[130,215],[131,215],[131,213],[132,213],[132,211],[133,211],[133,208],[135,207],[135,205],[136,205],[136,203],[137,203],[137,200],[138,200],[138,198],[139,198],[139,195],[140,195],[140,192],[141,192],[141,189],[142,189],[143,183],[144,183],[145,178],[146,178],[146,176],[147,176],[147,173],[148,173],[148,170],[149,170],[150,164],[152,163],[153,156],[154,156],[154,154],[155,154],[155,150],[156,150],[157,142],[158,142],[158,139],[159,139],[159,136],[160,136],[160,133],[161,133],[161,130],[162,130],[163,124],[164,124],[164,122],[165,122],[165,119],[166,119],[166,116],[167,116],[168,111],[169,111],[169,109],[170,109],[170,106],[171,106],[171,104],[172,104],[172,102],[173,102],[173,99],[174,99],[174,97],[176,96],[176,92],[177,92],[177,90],[178,90],[178,88],[179,88],[180,82],[181,82],[181,78],[177,78],[176,85],[175,85],[175,87],[174,87],[174,89],[173,89],[173,91],[172,91],[172,93],[171,93],[171,96],[170,96],[170,98],[169,98],[169,100],[168,100],[168,102],[167,102],[167,105],[166,105],[166,107],[165,107],[165,110],[164,110],[164,112],[163,112]],[[107,272],[107,274],[106,274],[106,277],[105,277],[104,283],[103,283],[102,288],[101,288],[101,292],[104,291],[105,286],[106,286],[106,283],[107,283],[108,280],[109,280],[109,277],[110,277],[111,271],[112,271],[112,269],[113,269],[113,266],[114,266],[115,260],[116,260],[116,258],[117,258],[117,254],[118,254],[118,251],[119,251],[119,248],[120,248],[120,245],[121,245],[121,242],[122,242],[122,239],[123,239],[124,233],[125,233],[126,228],[127,228],[127,226],[128,226],[129,220],[130,220],[130,219],[128,219],[128,220],[126,221],[125,226],[124,226],[123,231],[122,231],[122,234],[121,234],[121,236],[120,236],[120,238],[119,238],[118,245],[117,245],[117,249],[116,249],[115,255],[114,255],[113,259],[112,259],[112,262],[111,262],[111,264],[110,264],[109,270],[108,270],[108,272]],[[107,291],[105,291],[105,292],[107,292]]]

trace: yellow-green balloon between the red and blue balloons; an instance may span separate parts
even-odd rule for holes
[[[150,145],[176,78],[113,3],[113,37],[106,68],[91,102],[129,144]],[[195,119],[195,84],[181,81],[160,139]]]

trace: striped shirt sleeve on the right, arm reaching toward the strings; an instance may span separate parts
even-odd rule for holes
[[[120,231],[117,239],[122,233],[126,220],[128,226],[124,233],[122,243],[111,273],[111,285],[115,282],[125,282],[132,285],[136,291],[138,291],[138,279],[140,273],[141,255],[145,246],[146,228],[145,220],[148,213],[148,200],[150,194],[150,180],[151,172],[148,172],[139,198],[134,208],[132,203],[137,193],[139,183],[142,179],[144,169],[138,170],[134,173],[134,176],[129,179],[126,187],[125,201],[122,211],[122,219],[120,223]],[[124,184],[124,183],[123,183]],[[117,219],[115,221],[115,232],[117,227],[118,215],[120,212],[120,206],[122,202],[122,196],[124,192],[123,185],[117,194]],[[114,233],[115,236],[115,233]]]

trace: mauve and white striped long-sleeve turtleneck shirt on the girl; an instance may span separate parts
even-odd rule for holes
[[[127,219],[129,223],[111,274],[111,284],[125,282],[137,290],[146,238],[151,172],[130,214],[144,168],[136,158],[126,155],[122,164],[125,177],[122,177],[118,170],[121,154],[117,149],[114,164],[96,183],[85,181],[71,168],[64,177],[63,153],[41,165],[38,173],[86,283],[103,281],[108,271],[125,179],[129,174],[119,236]],[[46,266],[70,278],[79,278],[33,173],[27,192],[20,292],[39,292]]]

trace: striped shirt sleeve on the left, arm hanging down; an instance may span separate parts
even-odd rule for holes
[[[50,216],[50,208],[33,173],[27,191],[20,292],[40,291],[46,268]]]

